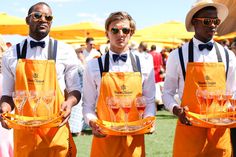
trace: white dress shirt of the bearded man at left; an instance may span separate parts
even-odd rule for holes
[[[30,41],[36,41],[30,36],[26,38],[27,40],[27,59],[37,59],[37,60],[47,60],[48,59],[48,44],[49,36],[46,36],[40,41],[45,41],[45,48],[40,46],[31,48]],[[21,52],[25,40],[20,43]],[[54,40],[53,40],[54,42]],[[17,52],[16,46],[9,48],[3,55],[2,58],[2,73],[4,86],[2,89],[3,95],[11,96],[14,91],[14,85],[16,80],[16,64],[17,64]],[[73,90],[81,91],[81,85],[78,76],[78,67],[81,65],[79,62],[75,50],[62,42],[58,41],[57,45],[57,57],[56,57],[56,72],[57,79],[62,93],[64,89],[67,92]]]

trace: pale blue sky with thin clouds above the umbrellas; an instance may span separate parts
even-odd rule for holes
[[[114,11],[126,11],[136,21],[137,29],[170,20],[184,22],[196,0],[45,0],[54,15],[53,26],[78,22],[97,22],[104,26],[107,16]],[[0,12],[24,18],[36,0],[0,0]],[[4,36],[5,40],[12,37]],[[14,41],[12,41],[14,42]]]

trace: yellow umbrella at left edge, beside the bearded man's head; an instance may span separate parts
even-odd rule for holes
[[[0,34],[28,34],[28,26],[24,19],[0,13]]]

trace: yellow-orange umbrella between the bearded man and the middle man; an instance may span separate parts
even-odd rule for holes
[[[76,39],[76,37],[103,37],[103,27],[92,22],[81,22],[66,26],[54,27],[50,35],[56,39]]]

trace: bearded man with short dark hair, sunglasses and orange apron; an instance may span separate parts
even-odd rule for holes
[[[18,90],[34,90],[43,95],[47,91],[55,91],[51,111],[45,110],[44,103],[40,102],[37,106],[39,115],[45,112],[57,114],[65,111],[63,122],[58,128],[15,129],[15,157],[76,156],[75,144],[67,121],[72,106],[80,100],[78,60],[73,48],[49,37],[52,19],[52,11],[48,4],[39,2],[33,5],[26,17],[29,36],[10,48],[3,56],[4,86],[0,113],[14,109],[12,92]],[[63,96],[64,90],[69,93],[66,100]],[[22,108],[24,116],[34,116],[29,101],[26,101]],[[17,109],[15,112],[19,114]],[[1,122],[5,128],[8,127],[4,121]]]

